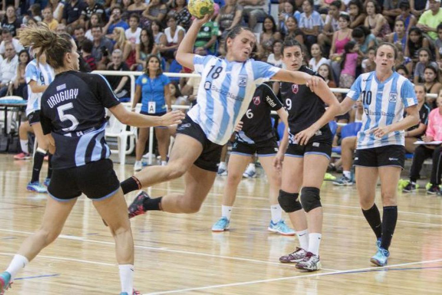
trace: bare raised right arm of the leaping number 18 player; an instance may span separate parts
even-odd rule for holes
[[[187,31],[183,38],[183,41],[179,43],[178,50],[176,51],[176,60],[183,67],[194,69],[193,66],[193,48],[199,29],[201,26],[209,20],[210,15],[204,15],[202,19],[194,19],[191,27]]]

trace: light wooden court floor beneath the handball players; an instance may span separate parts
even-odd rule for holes
[[[132,168],[115,164],[120,179],[130,176]],[[26,191],[30,172],[30,161],[0,155],[0,271],[42,218],[46,195]],[[46,164],[42,176],[45,173]],[[135,287],[142,294],[442,294],[441,197],[423,190],[399,193],[389,265],[378,268],[369,261],[374,236],[358,206],[356,189],[324,183],[320,246],[324,269],[300,272],[278,262],[279,256],[293,251],[297,239],[267,232],[265,177],[241,182],[231,230],[211,232],[220,216],[224,185],[225,177],[218,177],[197,214],[152,212],[132,220]],[[182,189],[179,179],[156,185],[149,193],[160,196]],[[134,196],[129,194],[128,202]],[[19,273],[6,294],[119,294],[119,290],[113,239],[91,201],[81,197],[61,236]]]

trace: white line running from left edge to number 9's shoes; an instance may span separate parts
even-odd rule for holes
[[[19,234],[33,234],[31,232],[25,232],[25,231],[20,231],[20,230],[0,229],[0,231],[6,231],[6,232],[11,232],[11,233],[19,233]],[[97,244],[104,244],[104,245],[112,245],[112,246],[115,245],[114,242],[91,240],[91,239],[88,239],[88,238],[82,238],[82,237],[78,237],[78,236],[60,235],[59,238],[62,238],[62,239],[63,238],[65,238],[65,239],[72,239],[72,240],[76,240],[76,241],[83,241],[83,242],[90,242],[90,243],[97,243]],[[177,250],[177,249],[149,247],[149,246],[142,246],[142,245],[134,245],[134,247],[138,248],[138,249],[148,249],[148,250],[154,250],[154,251],[165,251],[165,252],[172,252],[172,253],[181,253],[181,254],[189,254],[189,255],[197,255],[197,256],[205,256],[205,257],[230,259],[230,260],[237,260],[237,261],[247,261],[247,262],[253,262],[253,263],[276,264],[276,265],[279,265],[279,266],[282,266],[282,267],[295,268],[295,266],[293,264],[286,264],[286,263],[281,263],[281,262],[263,261],[263,260],[249,259],[249,258],[231,257],[231,256],[223,256],[223,255],[216,255],[216,254],[184,251],[184,250]],[[337,269],[330,269],[330,268],[323,268],[323,269],[324,270],[329,270],[329,271],[338,271]]]

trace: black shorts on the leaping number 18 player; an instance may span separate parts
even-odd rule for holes
[[[202,153],[194,162],[198,168],[217,172],[223,146],[211,142],[201,127],[186,115],[183,122],[176,127],[177,134],[186,134],[202,144]]]

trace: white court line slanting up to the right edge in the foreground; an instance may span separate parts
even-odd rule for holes
[[[206,290],[206,289],[221,288],[221,287],[243,286],[243,285],[267,283],[267,282],[282,281],[282,280],[302,279],[302,278],[308,278],[308,277],[312,277],[312,276],[325,276],[325,275],[330,275],[330,274],[340,274],[340,273],[346,273],[346,272],[362,272],[362,271],[365,271],[365,270],[374,270],[374,269],[382,269],[382,268],[393,268],[393,267],[399,267],[399,266],[405,266],[405,265],[413,265],[413,264],[426,264],[426,263],[439,262],[439,261],[442,261],[442,259],[427,260],[427,261],[417,261],[417,262],[409,262],[409,263],[401,263],[401,264],[392,264],[392,265],[387,265],[387,266],[382,266],[382,267],[374,267],[374,266],[372,266],[372,267],[367,267],[367,268],[354,268],[354,269],[340,270],[340,271],[336,271],[336,272],[320,272],[320,273],[312,273],[312,274],[309,274],[309,275],[301,275],[301,276],[286,276],[286,277],[282,277],[282,278],[274,278],[274,279],[266,279],[266,280],[255,280],[255,281],[231,283],[231,284],[219,284],[219,285],[212,285],[212,286],[205,286],[205,287],[195,287],[195,288],[186,288],[186,289],[171,290],[171,291],[160,291],[160,292],[154,292],[154,293],[145,293],[143,295],[170,294],[170,293],[180,293],[180,292],[185,292],[185,291],[196,291],[196,290]]]

